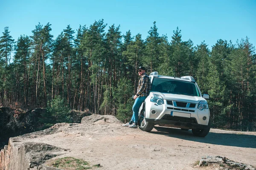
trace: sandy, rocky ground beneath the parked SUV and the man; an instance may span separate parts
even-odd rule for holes
[[[201,138],[193,136],[191,130],[155,127],[148,133],[139,128],[122,127],[122,123],[110,115],[86,116],[81,124],[56,124],[51,129],[11,138],[10,141],[12,145],[16,144],[15,147],[24,147],[31,169],[40,164],[53,167],[64,157],[87,161],[91,168],[99,170],[228,170],[256,167],[256,132],[211,129],[206,137]],[[35,148],[36,153],[33,152]],[[3,159],[3,150],[1,154],[0,170],[1,166],[3,168],[4,164],[8,164]],[[225,157],[248,166],[201,160],[209,156]],[[198,166],[200,160],[203,162],[201,167]]]

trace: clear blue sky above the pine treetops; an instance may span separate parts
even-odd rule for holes
[[[0,0],[0,36],[8,26],[15,40],[32,35],[38,22],[52,24],[55,39],[67,25],[76,31],[101,19],[143,39],[156,21],[169,42],[179,27],[183,41],[205,41],[210,50],[219,39],[235,44],[246,36],[256,46],[256,0]]]

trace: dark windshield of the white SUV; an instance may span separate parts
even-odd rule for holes
[[[180,81],[176,79],[166,79],[155,77],[152,82],[151,91],[159,91],[161,93],[183,94],[189,96],[200,96],[195,83]]]

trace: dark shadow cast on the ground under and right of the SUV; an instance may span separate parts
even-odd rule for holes
[[[191,130],[184,131],[177,128],[156,126],[154,128],[157,130],[157,132],[152,131],[151,133],[170,136],[178,139],[225,146],[256,148],[256,136],[254,135],[209,132],[205,137],[197,137],[193,136]]]

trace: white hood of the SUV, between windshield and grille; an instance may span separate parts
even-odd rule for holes
[[[203,97],[198,96],[187,96],[183,94],[169,94],[169,93],[161,93],[157,91],[151,91],[151,94],[158,94],[163,97],[165,100],[174,100],[181,102],[190,102],[190,103],[199,103],[201,100],[206,100]],[[152,95],[150,95],[152,96]]]

